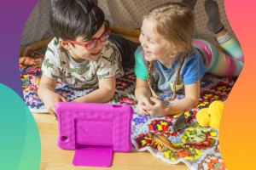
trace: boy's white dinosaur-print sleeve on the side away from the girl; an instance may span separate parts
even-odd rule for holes
[[[61,76],[60,68],[58,67],[58,57],[55,48],[49,44],[44,55],[44,61],[42,64],[42,72],[45,76],[57,79]]]

